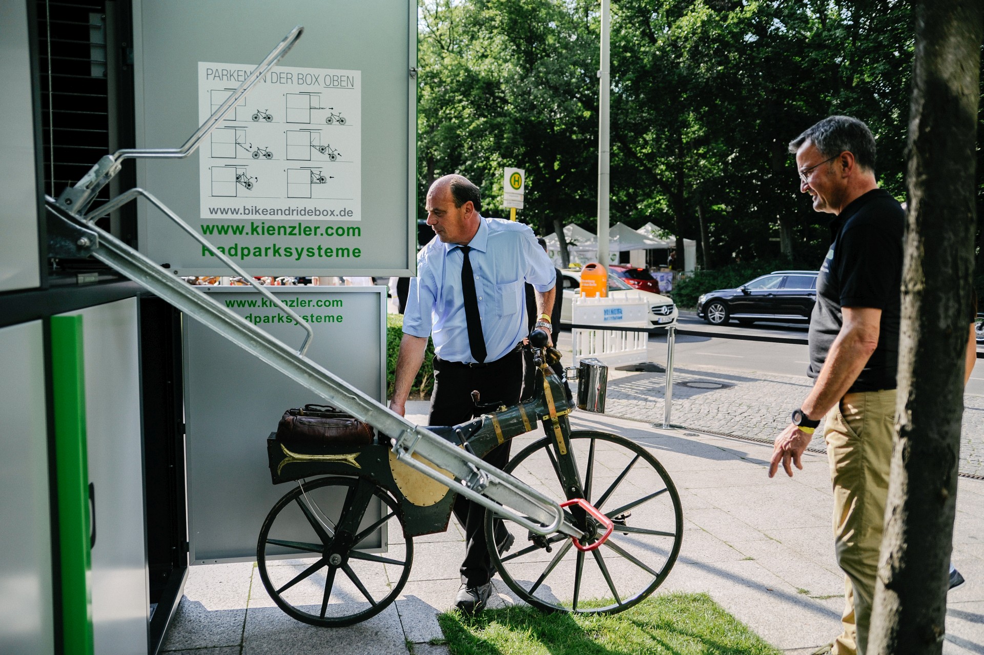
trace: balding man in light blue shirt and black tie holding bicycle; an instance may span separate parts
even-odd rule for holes
[[[434,391],[430,425],[456,425],[480,414],[480,402],[513,405],[520,401],[527,334],[523,284],[533,285],[536,327],[551,332],[554,268],[523,223],[485,218],[478,188],[461,175],[446,175],[427,192],[427,224],[437,235],[417,255],[417,277],[410,280],[396,386],[390,407],[400,415],[420,370],[427,337],[434,339]],[[485,461],[502,468],[510,442]],[[495,572],[485,546],[484,508],[459,497],[455,515],[465,533],[461,590],[456,605],[465,612],[484,607]],[[505,552],[512,535],[498,526],[496,541]],[[501,530],[501,538],[500,538]]]

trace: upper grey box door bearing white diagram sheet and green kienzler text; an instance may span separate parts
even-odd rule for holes
[[[423,202],[417,3],[324,7],[134,0],[137,148],[185,143],[284,34],[304,27],[198,151],[137,160],[137,186],[254,275],[413,275]],[[154,263],[230,274],[153,205],[136,206],[137,242]]]

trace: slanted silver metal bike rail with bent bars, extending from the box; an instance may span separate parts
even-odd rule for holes
[[[563,509],[553,499],[532,489],[512,475],[503,473],[479,457],[453,446],[429,430],[410,423],[305,357],[303,353],[312,335],[311,327],[150,193],[143,189],[131,189],[92,212],[86,213],[86,208],[92,203],[98,189],[105,186],[119,171],[117,155],[120,158],[184,157],[194,152],[235,102],[240,97],[244,97],[289,50],[302,30],[301,27],[291,30],[246,82],[229,96],[229,99],[180,149],[120,150],[116,155],[102,157],[82,181],[75,187],[67,189],[58,200],[46,196],[45,208],[52,214],[53,220],[50,230],[51,252],[64,257],[91,255],[110,268],[118,270],[291,380],[329,400],[339,409],[366,421],[381,433],[391,436],[394,440],[393,450],[401,462],[452,488],[468,500],[515,520],[535,534],[561,532],[572,537],[583,537],[584,533],[581,530],[564,520]],[[160,268],[154,261],[94,224],[95,218],[120,208],[139,196],[143,196],[154,207],[161,209],[164,215],[196,238],[223,264],[250,281],[260,293],[271,299],[281,311],[296,321],[299,327],[305,328],[307,336],[300,351],[295,351],[286,343],[219,305],[194,286]],[[413,458],[414,453],[445,469],[455,477],[456,481],[449,480],[444,473]]]

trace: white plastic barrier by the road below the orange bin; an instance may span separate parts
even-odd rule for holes
[[[584,357],[594,357],[608,366],[643,364],[649,359],[649,335],[646,332],[614,332],[610,327],[649,327],[649,305],[645,294],[630,292],[618,297],[575,298],[572,306],[574,325],[598,326],[598,329],[573,329],[574,365]]]

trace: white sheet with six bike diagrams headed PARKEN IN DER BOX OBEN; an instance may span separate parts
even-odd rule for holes
[[[254,67],[199,62],[199,120]],[[299,218],[361,220],[361,97],[360,71],[274,68],[199,149],[202,219],[250,217],[265,235]]]

